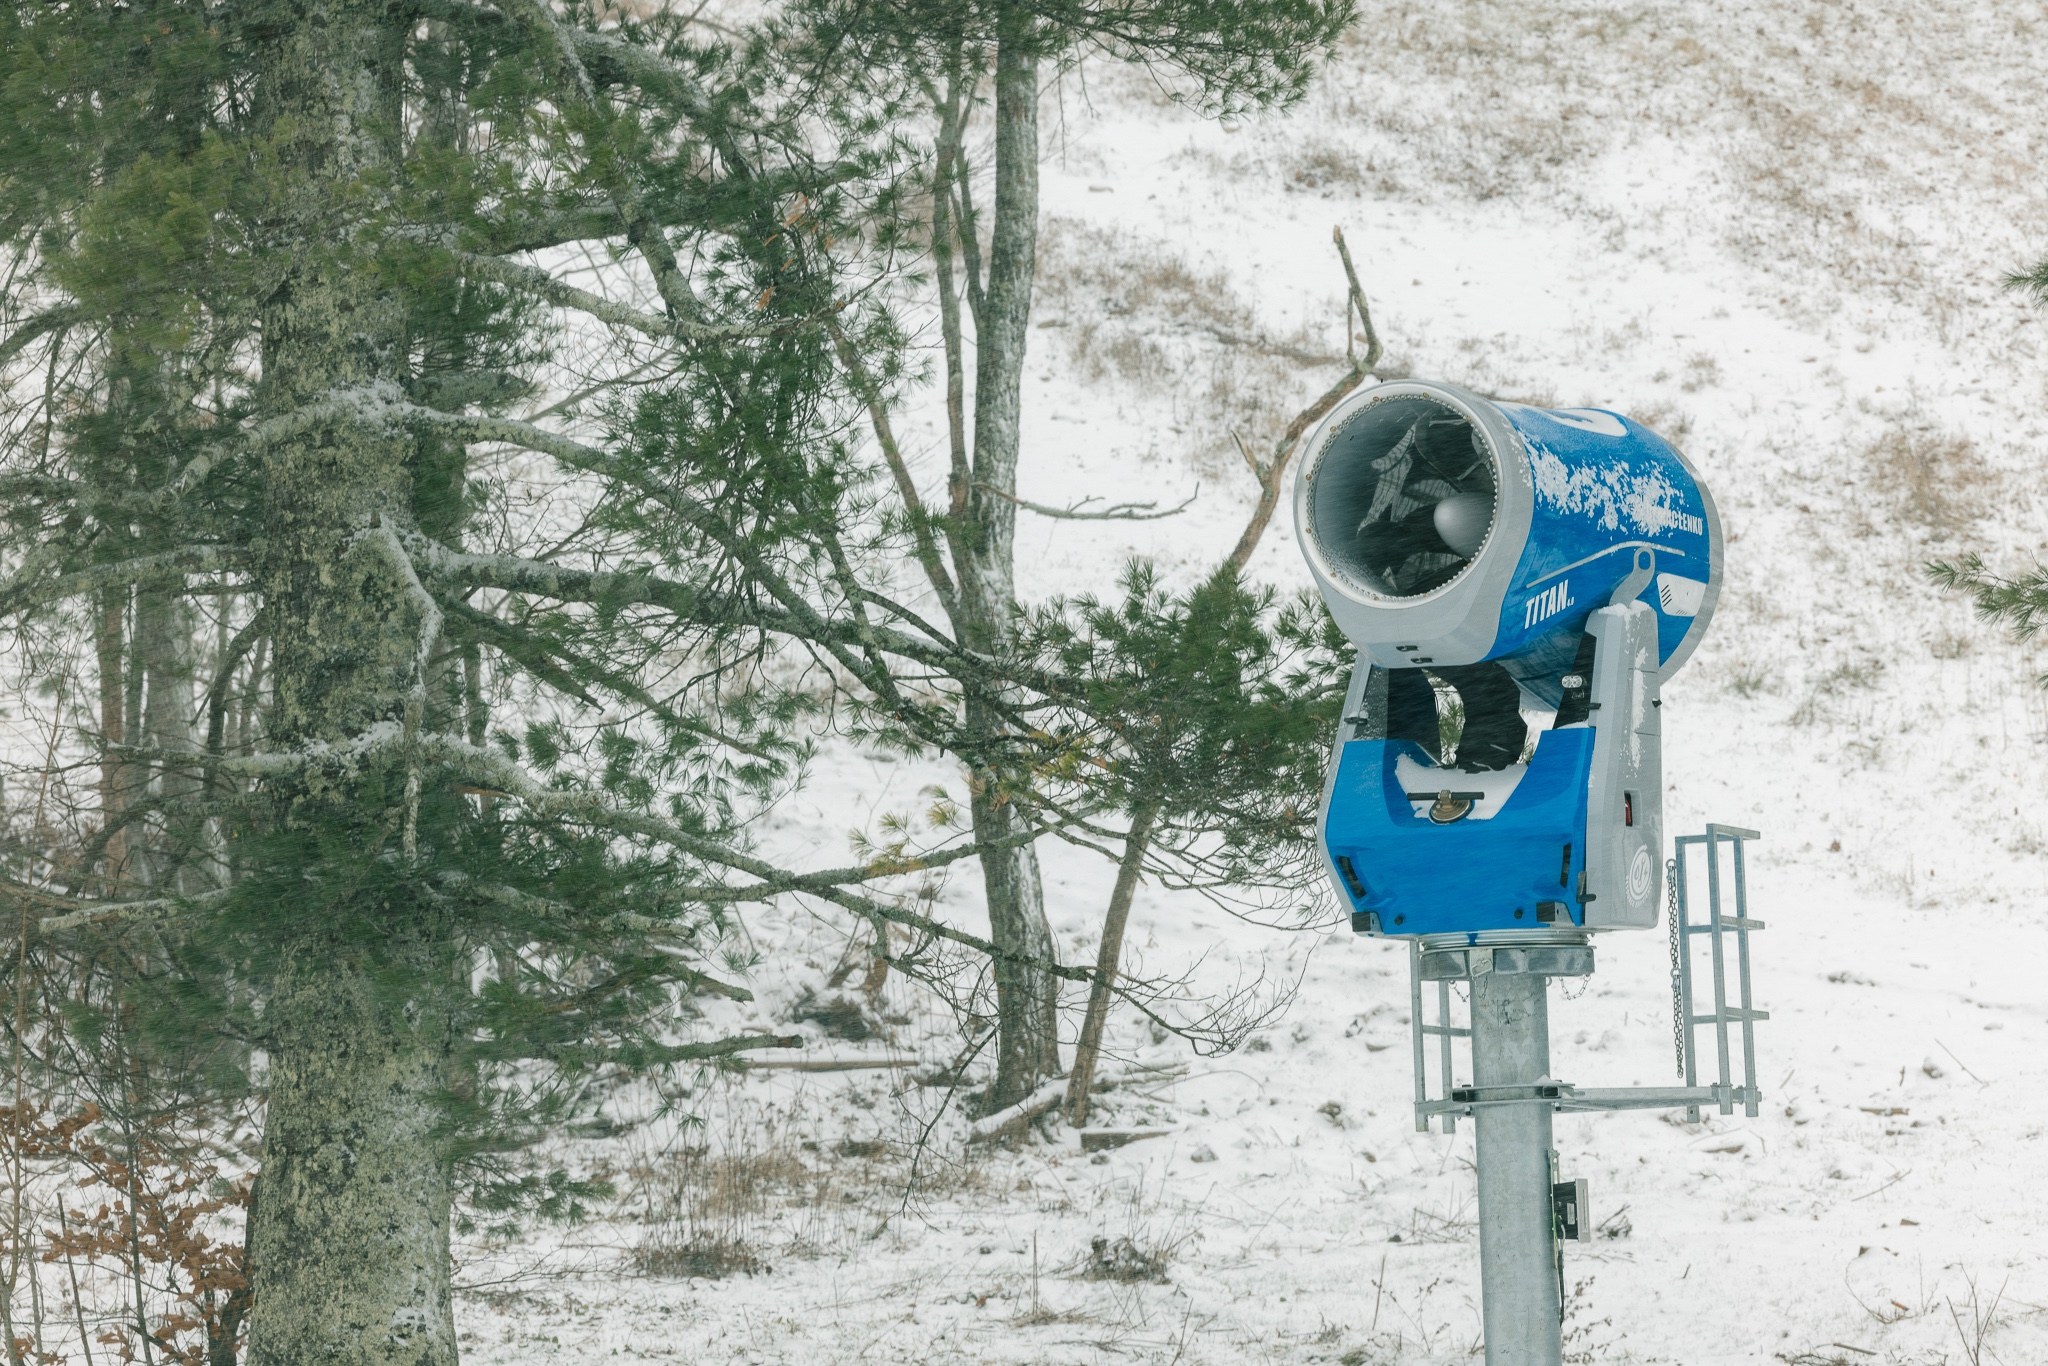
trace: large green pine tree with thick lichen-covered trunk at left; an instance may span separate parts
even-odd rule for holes
[[[37,952],[135,965],[80,1006],[131,1057],[260,1094],[252,1362],[453,1362],[459,1188],[569,1200],[498,1155],[608,1075],[791,1042],[676,1038],[745,995],[735,907],[901,913],[887,860],[745,850],[821,678],[901,696],[817,606],[872,549],[823,244],[891,162],[782,41],[0,10],[0,614],[90,659],[100,772],[16,899]]]

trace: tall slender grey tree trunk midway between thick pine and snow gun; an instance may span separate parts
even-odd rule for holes
[[[1032,276],[1038,268],[1038,57],[1028,14],[1006,20],[995,49],[995,207],[989,276],[975,319],[975,455],[967,489],[969,528],[961,584],[961,633],[971,649],[1012,639],[1016,604],[1018,426]],[[969,229],[971,231],[971,229]],[[969,727],[993,733],[985,709],[969,705]],[[975,838],[1014,840],[1022,825],[997,776],[975,774],[969,803]],[[1059,987],[1026,958],[1053,956],[1038,854],[1030,844],[981,856],[995,961],[997,1053],[991,1108],[1028,1096],[1059,1071]]]

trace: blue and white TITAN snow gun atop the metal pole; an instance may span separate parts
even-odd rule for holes
[[[1720,592],[1686,457],[1614,412],[1384,383],[1309,434],[1294,526],[1358,645],[1321,819],[1352,928],[1655,926],[1659,684]]]

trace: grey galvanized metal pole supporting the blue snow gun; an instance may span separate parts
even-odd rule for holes
[[[1473,977],[1473,1087],[1534,1090],[1550,1075],[1550,1010],[1542,973]],[[1473,1112],[1479,1139],[1479,1282],[1487,1366],[1559,1366],[1563,1305],[1552,1212],[1550,1106]]]

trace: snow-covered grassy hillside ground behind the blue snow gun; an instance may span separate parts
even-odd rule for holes
[[[1569,1360],[2048,1360],[2048,696],[2034,651],[1921,573],[2048,549],[2048,319],[2001,289],[2048,250],[2042,39],[1999,0],[1395,0],[1284,117],[1204,123],[1104,59],[1047,96],[1022,494],[1200,496],[1159,522],[1026,518],[1038,592],[1130,553],[1192,575],[1235,541],[1231,432],[1270,442],[1341,365],[1315,360],[1343,350],[1331,225],[1389,373],[1634,414],[1720,502],[1726,594],[1665,692],[1667,811],[1763,831],[1765,1106],[1559,1118],[1604,1233],[1567,1249]],[[936,453],[930,416],[911,434]],[[1253,571],[1296,588],[1284,516]],[[932,778],[821,766],[774,838],[840,846]],[[1087,961],[1110,870],[1044,856]],[[940,905],[971,924],[975,879]],[[836,946],[801,909],[752,932],[809,954],[760,983],[758,1016],[786,1018]],[[963,1151],[940,1116],[909,1188],[942,1092],[717,1081],[698,1124],[582,1151],[631,1192],[616,1210],[465,1251],[469,1358],[1468,1360],[1470,1130],[1413,1130],[1401,946],[1147,889],[1133,948],[1210,983],[1300,975],[1247,1049],[1104,1100],[1165,1137]],[[938,1006],[889,1006],[893,1040],[815,1053],[942,1061]],[[1663,934],[1604,940],[1552,1028],[1561,1077],[1667,1083]],[[1112,1036],[1186,1059],[1135,1020]],[[752,1272],[659,1255],[721,1231]],[[1087,1276],[1139,1257],[1161,1276]]]

